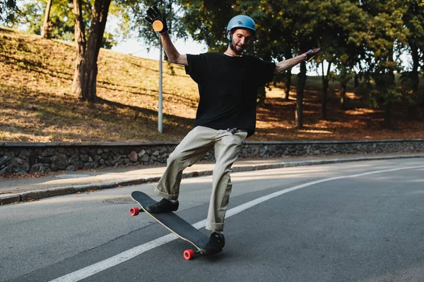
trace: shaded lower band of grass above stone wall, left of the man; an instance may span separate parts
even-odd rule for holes
[[[105,99],[87,104],[73,96],[12,85],[4,87],[3,98],[0,131],[19,141],[180,140],[194,124],[190,118],[164,114],[167,135],[160,135],[155,131],[158,113],[151,109]]]

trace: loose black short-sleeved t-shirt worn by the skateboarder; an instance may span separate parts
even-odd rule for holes
[[[195,125],[217,130],[239,128],[254,134],[257,91],[271,82],[275,63],[254,56],[187,54],[185,70],[199,85]]]

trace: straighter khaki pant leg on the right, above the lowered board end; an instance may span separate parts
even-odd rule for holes
[[[235,134],[220,130],[221,136],[215,144],[216,164],[213,169],[212,195],[209,203],[206,229],[223,231],[225,213],[227,212],[232,183],[230,178],[232,164],[240,154],[242,143],[247,132],[239,131]]]

